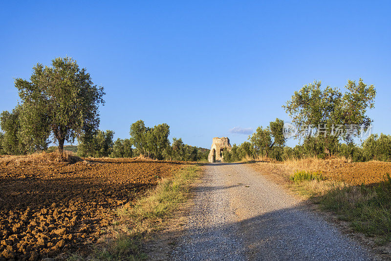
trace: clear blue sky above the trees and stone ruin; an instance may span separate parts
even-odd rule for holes
[[[100,129],[115,138],[143,119],[190,145],[239,144],[230,129],[289,121],[281,106],[304,84],[360,77],[377,89],[373,131],[391,133],[391,1],[66,2],[1,2],[0,111],[14,78],[68,55],[105,87]]]

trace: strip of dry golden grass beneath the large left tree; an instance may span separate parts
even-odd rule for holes
[[[2,155],[0,156],[0,165],[16,165],[16,166],[26,166],[26,165],[49,165],[53,163],[76,163],[78,161],[83,161],[81,158],[76,156],[71,151],[64,151],[60,153],[59,151],[54,152],[36,152],[30,155]]]

